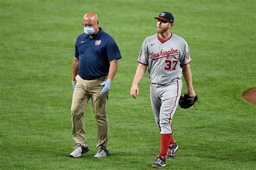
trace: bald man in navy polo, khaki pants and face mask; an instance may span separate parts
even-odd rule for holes
[[[84,111],[89,99],[97,122],[97,148],[95,158],[109,155],[107,149],[108,119],[106,103],[109,89],[117,72],[120,51],[114,39],[99,28],[95,13],[83,18],[84,32],[77,37],[72,63],[73,99],[71,105],[72,138],[75,150],[70,157],[77,158],[89,151],[84,130]]]

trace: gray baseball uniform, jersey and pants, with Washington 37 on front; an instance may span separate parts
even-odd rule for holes
[[[182,88],[181,66],[191,62],[189,47],[177,35],[161,43],[156,34],[144,40],[138,62],[149,66],[151,106],[158,128],[161,134],[172,133]]]

